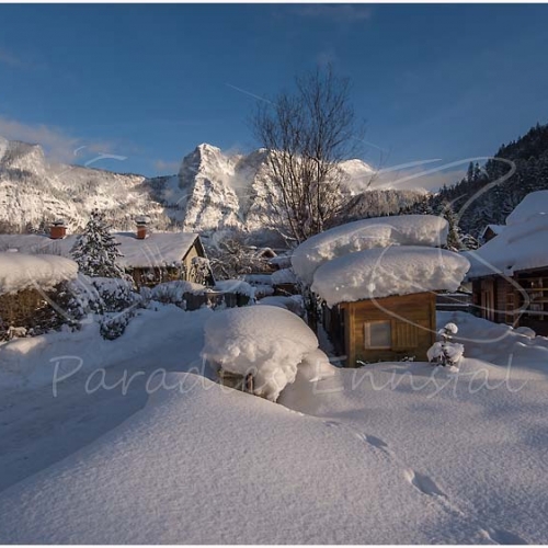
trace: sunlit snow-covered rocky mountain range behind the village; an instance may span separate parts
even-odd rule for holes
[[[341,167],[349,175],[343,192],[363,194],[373,170],[361,160]],[[147,179],[54,163],[39,145],[0,138],[0,221],[19,228],[62,217],[76,230],[99,207],[118,230],[148,215],[157,229],[259,235],[267,225],[267,197],[275,192],[264,149],[227,155],[203,144],[183,158],[178,174]]]

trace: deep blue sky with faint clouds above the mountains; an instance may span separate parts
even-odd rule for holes
[[[352,79],[364,160],[489,156],[548,122],[547,27],[541,4],[2,4],[0,135],[172,173],[203,141],[254,148],[251,94],[329,61]]]

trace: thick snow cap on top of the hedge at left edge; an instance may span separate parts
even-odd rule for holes
[[[64,256],[0,253],[0,295],[31,288],[49,290],[77,276],[78,264]]]

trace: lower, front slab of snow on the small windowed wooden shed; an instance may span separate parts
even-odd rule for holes
[[[333,259],[315,273],[312,292],[328,306],[390,295],[458,289],[470,263],[461,254],[419,246],[369,249]]]

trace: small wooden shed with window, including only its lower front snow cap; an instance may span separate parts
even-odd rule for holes
[[[346,364],[425,359],[435,341],[436,294],[454,292],[468,261],[439,248],[393,246],[320,266],[312,292],[326,301],[324,326]]]

